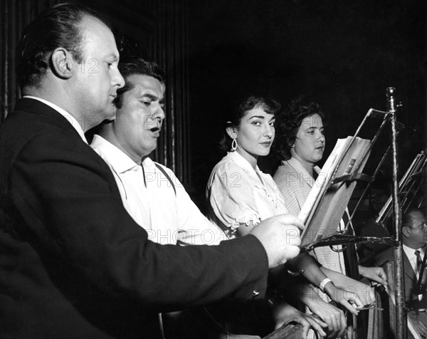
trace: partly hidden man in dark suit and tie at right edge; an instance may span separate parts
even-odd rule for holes
[[[419,271],[427,244],[427,218],[419,209],[411,209],[402,217],[402,241],[404,243],[404,286],[405,302],[412,311],[408,317],[423,336],[427,335],[426,316],[426,285],[423,282],[422,293],[416,292]],[[394,261],[394,249],[387,249],[376,256],[376,264],[383,266],[388,261]],[[426,276],[424,271],[423,276]],[[425,279],[423,279],[425,280]],[[424,295],[424,296],[422,296]],[[419,310],[419,311],[418,311]]]

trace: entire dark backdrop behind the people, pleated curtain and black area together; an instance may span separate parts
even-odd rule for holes
[[[58,2],[0,1],[2,118],[19,97],[13,53],[23,26]],[[326,157],[338,137],[354,133],[369,108],[385,109],[385,89],[394,86],[403,104],[398,118],[406,125],[399,136],[401,172],[426,147],[426,1],[88,4],[112,20],[122,55],[154,59],[167,71],[167,120],[153,157],[176,172],[199,207],[222,157],[217,145],[223,123],[242,93],[262,89],[283,105],[300,94],[320,103],[327,114]],[[367,132],[374,130],[372,125]],[[384,136],[381,143],[388,142]],[[371,160],[378,157],[374,152]],[[263,159],[260,166],[273,173],[277,162]],[[390,169],[386,162],[385,187]]]

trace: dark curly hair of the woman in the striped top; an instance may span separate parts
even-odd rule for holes
[[[301,127],[302,120],[312,115],[320,115],[322,120],[325,115],[317,103],[306,103],[302,97],[292,100],[276,118],[276,133],[273,142],[273,152],[280,160],[289,160],[290,149],[295,142],[297,132]]]

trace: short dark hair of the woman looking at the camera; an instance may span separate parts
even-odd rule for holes
[[[272,98],[250,95],[243,100],[239,101],[231,113],[227,116],[226,127],[239,127],[246,112],[253,110],[254,108],[262,108],[265,113],[278,115],[281,105],[278,101]],[[221,150],[228,151],[231,148],[231,142],[233,140],[228,135],[226,130],[223,132],[223,137],[219,142]]]

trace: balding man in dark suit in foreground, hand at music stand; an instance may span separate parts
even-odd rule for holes
[[[23,98],[0,131],[0,338],[159,338],[157,312],[260,298],[302,223],[265,220],[218,246],[162,246],[125,211],[84,132],[124,81],[97,14],[60,5],[26,28]]]

